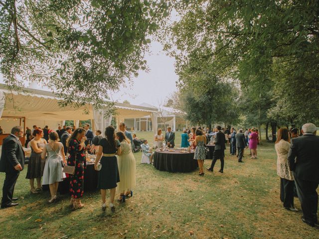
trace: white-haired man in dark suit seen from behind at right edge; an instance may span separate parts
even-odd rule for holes
[[[303,136],[293,138],[288,154],[290,170],[294,171],[298,198],[303,210],[302,221],[314,227],[318,224],[319,137],[317,127],[306,123]],[[296,160],[295,160],[296,159]]]

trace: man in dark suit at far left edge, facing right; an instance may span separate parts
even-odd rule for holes
[[[14,126],[11,129],[11,134],[2,143],[0,172],[5,172],[5,179],[2,188],[1,208],[18,205],[12,201],[17,200],[17,198],[13,198],[14,185],[20,171],[24,168],[24,151],[19,140],[20,137],[23,137],[23,128]]]

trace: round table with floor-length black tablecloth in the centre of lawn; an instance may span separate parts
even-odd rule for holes
[[[198,167],[194,152],[181,153],[180,150],[155,151],[154,167],[160,171],[190,172]]]

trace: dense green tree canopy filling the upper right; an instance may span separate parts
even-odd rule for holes
[[[191,66],[195,75],[209,65],[216,76],[238,79],[242,89],[258,86],[257,92],[267,80],[274,107],[291,109],[286,119],[318,119],[318,1],[184,0],[175,9],[181,17],[166,29],[165,49],[177,72]],[[253,99],[260,127],[267,111],[262,96]]]

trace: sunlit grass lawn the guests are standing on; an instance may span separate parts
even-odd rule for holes
[[[153,132],[137,134],[153,142]],[[176,133],[175,142],[180,143],[180,132]],[[98,191],[84,193],[85,207],[81,210],[71,209],[68,195],[48,204],[49,192],[29,193],[25,168],[14,191],[14,196],[20,198],[19,206],[0,210],[0,238],[319,238],[318,229],[301,221],[301,211],[283,209],[274,144],[263,142],[258,148],[258,159],[250,159],[247,150],[242,164],[236,156],[229,155],[229,147],[225,154],[224,174],[217,171],[218,161],[215,171],[204,177],[198,176],[197,170],[158,171],[152,165],[140,164],[141,153],[134,154],[137,187],[125,204],[116,202],[114,214],[109,208],[101,211]],[[210,163],[211,160],[205,160],[204,166]],[[1,173],[1,186],[3,180]],[[295,205],[301,209],[297,198]]]

